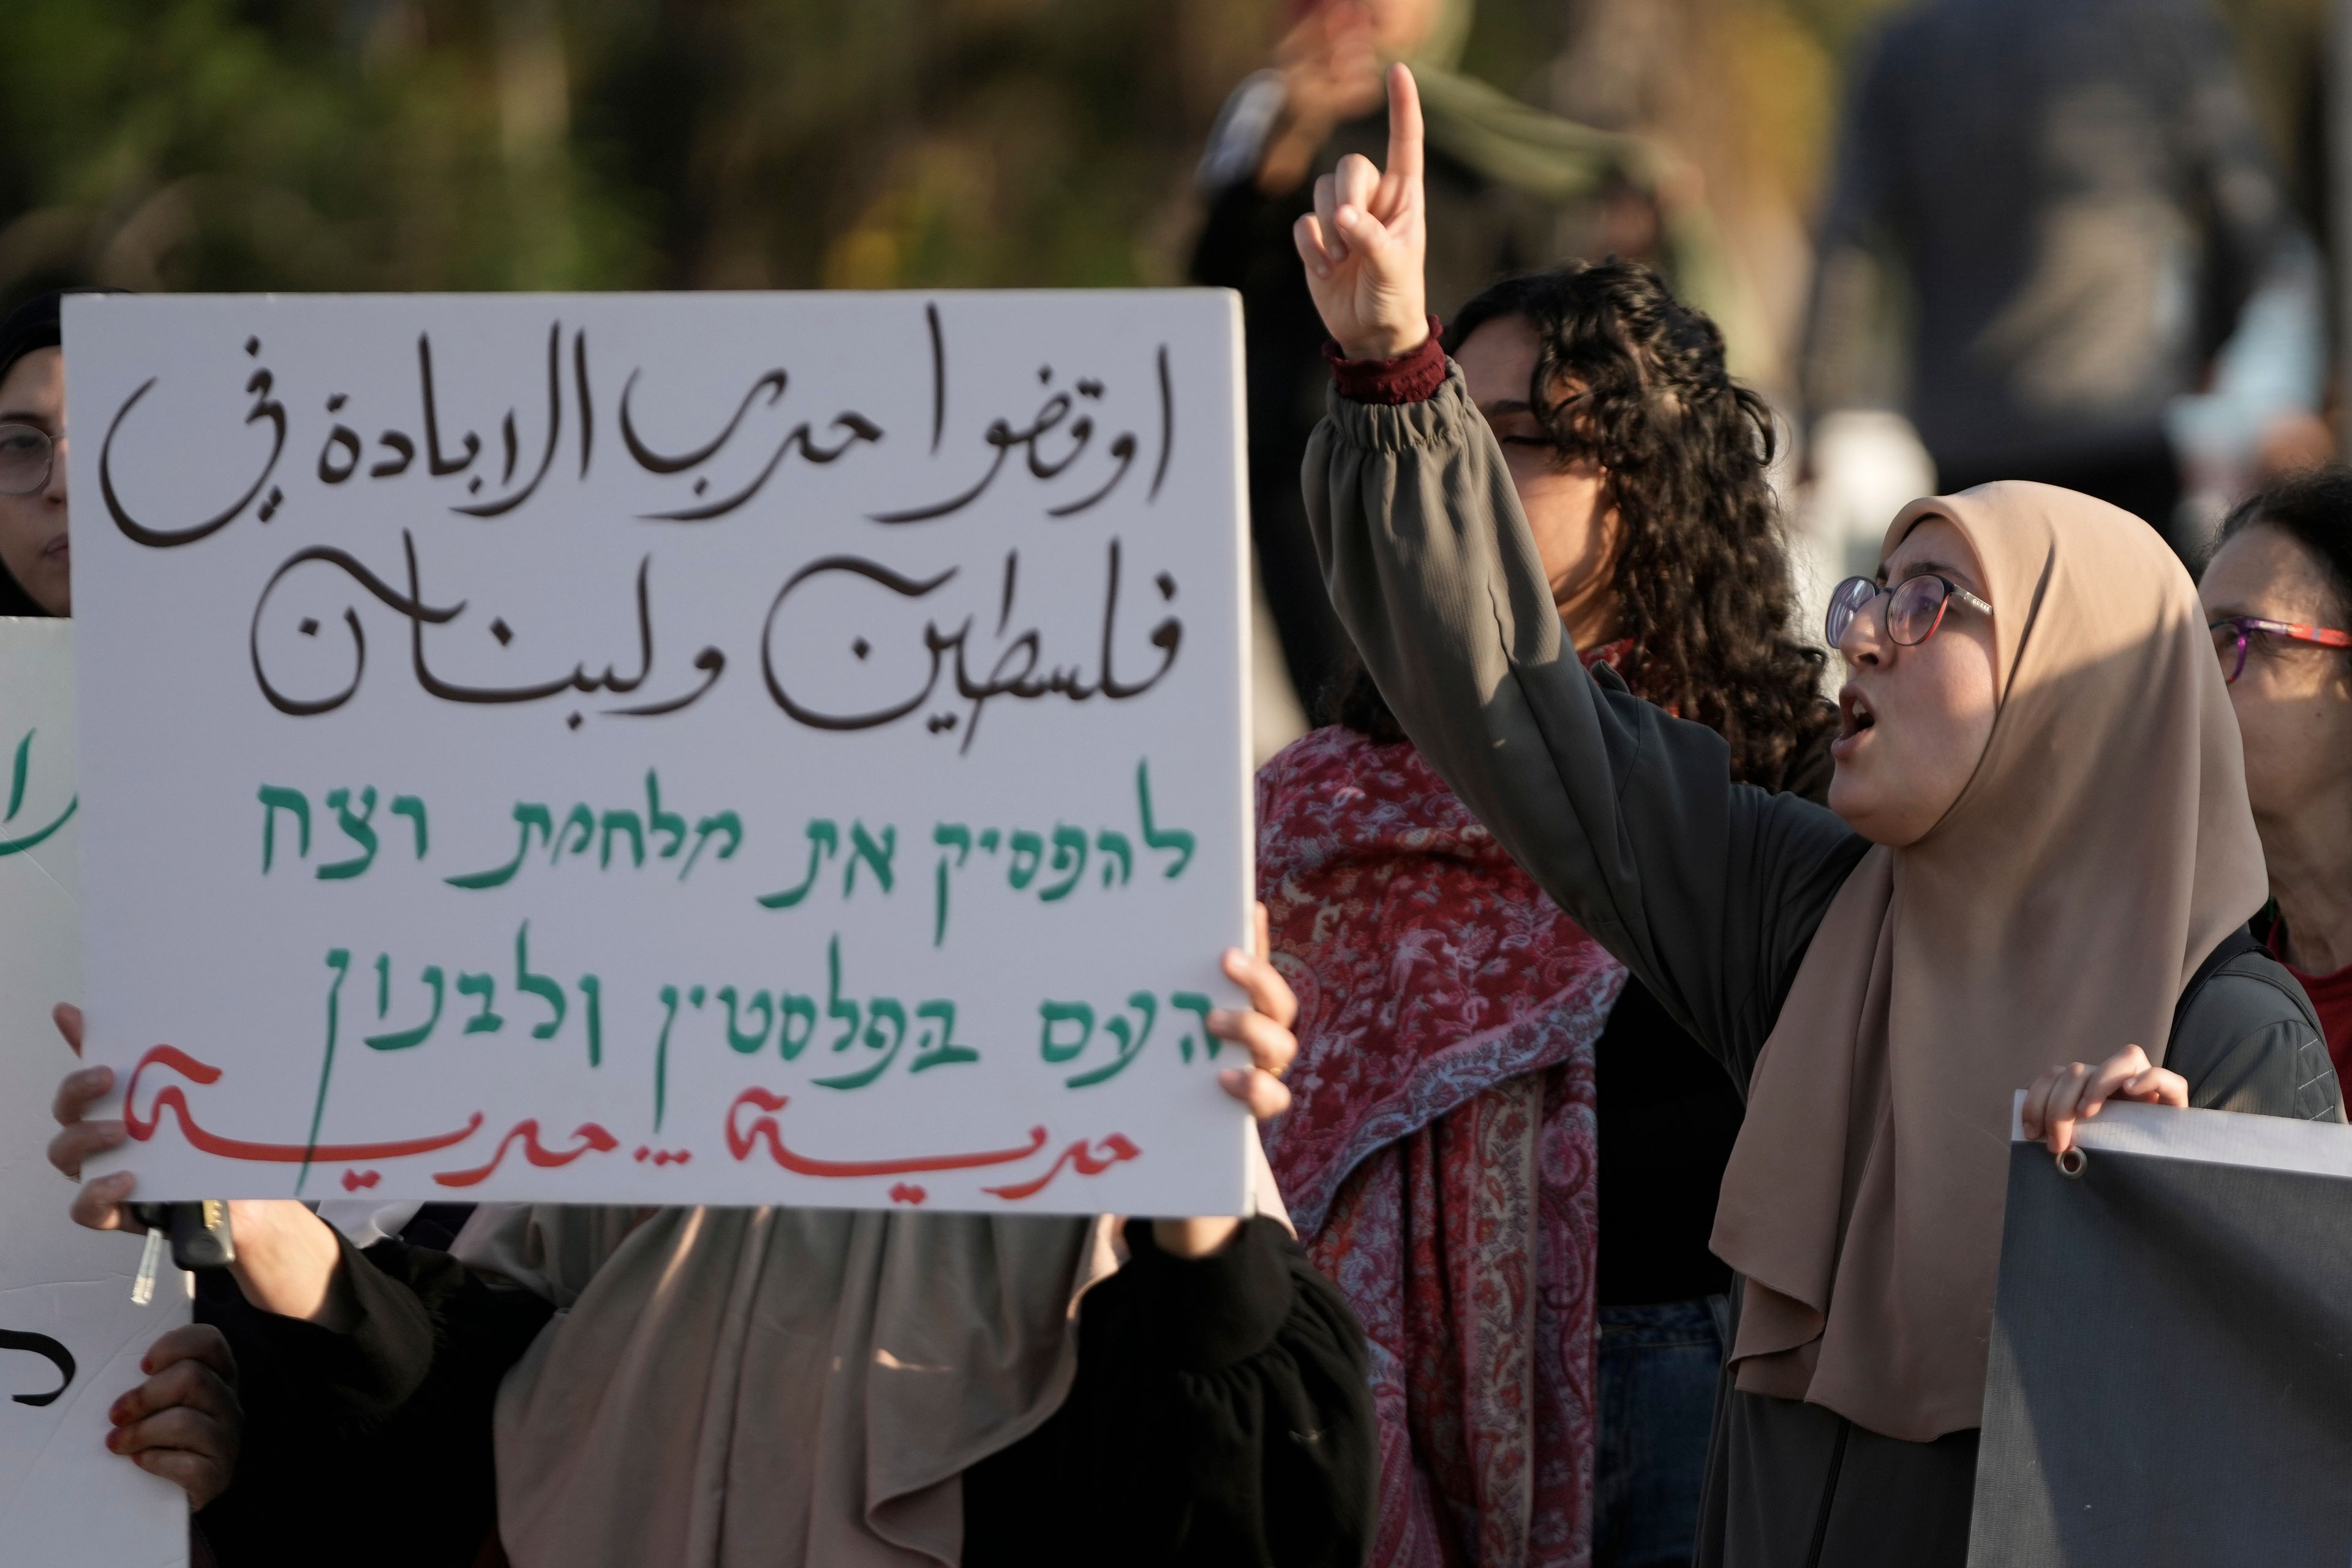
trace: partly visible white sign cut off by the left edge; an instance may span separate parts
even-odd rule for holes
[[[82,992],[73,623],[0,618],[0,1563],[183,1563],[188,1500],[106,1453],[139,1356],[188,1321],[186,1276],[132,1305],[139,1241],[66,1218],[42,1150],[78,1067],[49,1009]]]

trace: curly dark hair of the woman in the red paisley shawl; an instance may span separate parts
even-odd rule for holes
[[[1771,409],[1724,371],[1724,334],[1632,261],[1571,261],[1510,277],[1446,327],[1536,329],[1526,400],[1557,461],[1590,458],[1623,520],[1613,564],[1621,670],[1639,696],[1731,743],[1731,776],[1778,788],[1837,726],[1820,696],[1823,651],[1790,630],[1795,590],[1771,484]],[[1569,383],[1583,388],[1573,400]],[[1352,675],[1341,724],[1399,736],[1369,677]]]

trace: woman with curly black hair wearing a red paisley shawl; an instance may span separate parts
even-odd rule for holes
[[[1731,778],[1818,797],[1837,715],[1788,625],[1771,416],[1715,324],[1606,261],[1494,284],[1444,341],[1585,663],[1719,731]],[[1402,367],[1336,369],[1350,397],[1409,393]],[[1686,1563],[1738,1091],[1512,865],[1362,668],[1336,710],[1258,776],[1258,886],[1303,999],[1268,1150],[1374,1340],[1371,1561]]]

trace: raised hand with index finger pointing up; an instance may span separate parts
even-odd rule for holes
[[[1399,63],[1388,68],[1388,172],[1348,153],[1291,228],[1308,294],[1350,360],[1392,360],[1430,336],[1425,219],[1421,89]]]

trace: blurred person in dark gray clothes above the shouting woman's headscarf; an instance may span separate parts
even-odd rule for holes
[[[1945,494],[2042,480],[2176,545],[2169,407],[2204,388],[2258,292],[2305,331],[2321,320],[2317,252],[2206,0],[1903,12],[1853,75],[1818,256],[1811,414],[1893,400]],[[1889,317],[1907,317],[1907,374],[1875,353]],[[2314,395],[2305,376],[2270,411],[2307,421]]]

